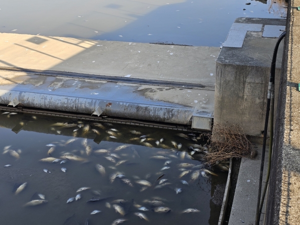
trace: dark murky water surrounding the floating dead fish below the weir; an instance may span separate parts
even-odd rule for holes
[[[90,128],[97,129],[100,135],[90,129],[84,133],[82,127],[63,128],[64,126],[59,124],[53,125],[57,122],[90,124]],[[174,130],[118,124],[102,125],[103,127],[99,127],[88,121],[57,117],[32,117],[30,114],[0,114],[0,223],[11,225],[84,224],[85,219],[89,218],[88,224],[111,224],[117,218],[125,218],[127,221],[124,224],[217,224],[220,205],[216,203],[221,198],[214,199],[212,196],[215,194],[217,186],[225,184],[227,172],[210,168],[210,171],[216,173],[216,175],[211,175],[204,170],[204,164],[201,161],[203,154],[193,154],[198,160],[193,160],[189,156],[188,146],[194,143],[203,145],[205,140],[198,138],[194,141],[190,138],[183,138],[177,135],[182,132]],[[73,132],[76,128],[79,130]],[[117,129],[114,131],[116,139],[109,137],[111,134],[106,132],[111,128]],[[141,134],[132,134],[132,130],[139,131]],[[188,133],[185,132],[185,134]],[[195,137],[199,136],[197,133],[194,134]],[[141,135],[147,135],[147,139],[143,142],[139,138]],[[65,144],[67,140],[73,138],[72,136],[76,136],[76,139]],[[188,136],[191,137],[191,135]],[[91,146],[93,150],[107,149],[120,156],[120,159],[115,158],[116,162],[121,159],[127,161],[115,165],[116,163],[104,158],[107,156],[106,153],[92,152],[87,155],[85,146],[82,144],[85,138],[87,138],[87,145]],[[155,141],[160,138],[164,138],[164,140],[157,146]],[[180,151],[172,146],[171,141],[182,144]],[[145,142],[153,147],[145,146]],[[84,158],[86,162],[72,160],[63,164],[40,162],[39,159],[49,156],[47,151],[50,147],[46,146],[49,143],[56,145],[55,150],[51,153],[53,157],[60,158],[63,153],[69,152],[68,154]],[[126,147],[115,151],[116,147],[123,144]],[[3,149],[7,145],[11,146],[6,148],[19,152],[19,159],[11,156],[9,152],[5,153]],[[181,158],[182,151],[186,152],[184,158]],[[150,159],[155,155],[168,157],[167,160],[171,160],[167,164],[170,168],[161,170],[166,160]],[[178,169],[177,165],[182,162],[193,163],[198,165],[198,168],[186,168],[191,171],[182,178],[178,178],[182,171]],[[104,176],[96,170],[95,164],[97,163],[105,167]],[[5,164],[12,166],[3,167]],[[62,172],[61,167],[65,167],[66,172]],[[47,169],[50,173],[44,172],[43,169]],[[203,174],[200,174],[195,180],[191,180],[190,174],[198,169]],[[115,178],[110,183],[108,176],[117,171],[131,180],[133,187],[123,183],[120,178]],[[171,184],[162,188],[153,188],[158,184],[155,180],[161,174],[164,174],[162,178],[168,179]],[[138,179],[146,179],[153,186],[141,191],[143,186],[135,182]],[[186,180],[189,185],[182,184],[180,180]],[[27,182],[25,189],[15,195],[13,187],[24,182]],[[82,198],[66,203],[67,199],[75,197],[76,190],[83,186],[90,187],[90,189],[80,192]],[[176,194],[174,190],[176,187],[182,188],[182,192]],[[99,191],[100,195],[92,192],[94,190]],[[48,202],[24,207],[26,202],[38,199],[36,193],[44,194]],[[86,202],[93,197],[108,196],[111,198]],[[134,200],[130,207],[127,204],[123,205],[127,209],[127,214],[122,216],[112,208],[111,201],[114,199]],[[168,213],[157,213],[151,210],[140,211],[148,217],[149,222],[141,220],[133,214],[138,211],[137,204],[150,209],[151,206],[146,201],[153,199],[161,199],[164,206],[171,208],[171,211]],[[110,202],[110,208],[105,206],[106,202]],[[181,213],[186,208],[196,208],[200,212]],[[95,209],[101,210],[101,212],[91,215],[90,212]],[[70,216],[71,218],[66,221]]]

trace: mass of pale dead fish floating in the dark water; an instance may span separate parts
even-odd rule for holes
[[[3,112],[2,114],[8,114],[8,117],[10,115],[16,114],[15,112]],[[34,116],[35,117],[35,116]],[[35,117],[36,118],[36,117]],[[192,161],[193,163],[189,162],[180,162],[180,160],[183,159],[201,159],[201,157],[198,157],[199,154],[205,154],[207,152],[208,147],[207,146],[201,146],[200,144],[197,144],[197,140],[201,138],[201,136],[197,137],[195,134],[184,134],[184,133],[178,133],[176,134],[177,137],[185,138],[190,140],[188,146],[182,146],[181,143],[178,143],[174,140],[165,140],[163,137],[159,140],[153,139],[150,137],[150,135],[142,135],[141,132],[136,130],[130,130],[130,134],[132,134],[132,137],[129,139],[132,142],[131,144],[121,144],[117,147],[110,148],[110,149],[92,149],[90,145],[88,145],[88,140],[86,138],[82,138],[82,140],[79,142],[79,138],[75,137],[77,132],[80,131],[82,134],[86,134],[88,132],[94,132],[97,135],[104,134],[106,138],[114,138],[117,139],[122,134],[115,128],[110,128],[113,124],[106,123],[102,125],[101,123],[93,122],[89,124],[83,124],[83,122],[78,121],[77,123],[68,123],[68,122],[56,122],[51,125],[51,129],[54,127],[59,127],[60,129],[70,128],[73,129],[74,137],[66,140],[64,143],[48,143],[46,146],[50,147],[45,154],[47,154],[47,157],[41,158],[40,162],[47,162],[47,163],[56,163],[57,165],[60,165],[62,163],[66,163],[69,161],[77,161],[77,162],[88,162],[88,157],[95,154],[95,155],[103,155],[103,159],[106,159],[111,162],[111,166],[109,167],[109,170],[113,169],[115,172],[112,172],[110,174],[106,173],[107,168],[105,168],[100,163],[97,163],[93,166],[91,166],[90,169],[95,169],[100,176],[105,177],[109,180],[109,182],[112,184],[115,179],[120,179],[121,182],[124,184],[132,187],[132,188],[139,188],[139,191],[144,191],[146,189],[158,189],[163,187],[168,187],[170,189],[173,189],[175,194],[180,194],[182,191],[184,191],[184,188],[177,187],[178,183],[182,183],[183,185],[189,185],[193,182],[195,182],[198,177],[201,175],[203,177],[208,177],[209,175],[217,175],[213,171],[204,168],[203,164],[193,164],[197,161]],[[77,127],[77,128],[75,128]],[[106,133],[106,134],[105,134]],[[180,138],[177,138],[180,140]],[[56,145],[59,146],[67,146],[68,144],[77,141],[81,144],[82,150],[80,151],[81,156],[75,155],[72,152],[60,152],[59,157],[52,157],[52,154],[55,153],[55,147]],[[161,148],[161,150],[156,151],[155,155],[150,156],[150,160],[161,160],[162,167],[154,173],[154,175],[158,176],[158,178],[154,182],[149,182],[147,178],[151,176],[151,174],[147,174],[145,176],[145,179],[140,179],[140,177],[137,177],[135,175],[130,174],[123,174],[122,172],[117,171],[117,166],[123,163],[130,163],[128,159],[122,159],[122,152],[123,149],[130,149],[131,154],[133,157],[140,157],[138,152],[136,151],[135,147],[133,146],[134,143],[139,143],[147,147],[153,147],[156,146],[158,148]],[[179,151],[182,149],[181,151]],[[154,151],[153,151],[154,152]],[[197,152],[197,153],[196,153]],[[21,150],[13,150],[11,149],[11,145],[5,146],[3,148],[3,154],[9,153],[11,157],[14,157],[16,160],[19,160],[21,158]],[[56,152],[57,153],[57,152]],[[83,155],[83,156],[82,156]],[[123,154],[127,155],[127,154]],[[10,167],[10,164],[4,165],[4,167]],[[176,179],[172,179],[172,181],[169,181],[166,178],[163,178],[164,171],[168,170],[170,168],[177,169],[178,174],[176,175]],[[223,171],[228,171],[228,162],[220,162],[218,163],[218,168]],[[67,172],[66,167],[61,167],[60,170],[62,172]],[[43,169],[44,172],[50,173],[49,170]],[[188,179],[186,181],[185,179]],[[27,186],[27,182],[24,182],[16,187],[15,189],[15,195],[19,194],[20,192],[24,191],[24,189]],[[76,191],[75,196],[71,196],[66,200],[66,203],[71,203],[73,201],[79,201],[82,197],[81,191],[89,190],[90,187],[84,186],[80,187]],[[92,190],[92,193],[94,194],[100,194],[97,190]],[[45,200],[45,195],[43,194],[37,194],[37,196],[40,199],[33,199],[27,203],[24,204],[24,206],[36,206],[40,204],[47,203],[48,201]],[[101,201],[101,200],[107,200],[112,197],[103,197],[103,198],[91,198],[87,202],[94,202],[94,201]],[[116,199],[112,200],[110,203],[106,201],[105,206],[107,208],[113,208],[117,214],[120,216],[125,216],[128,213],[133,213],[134,215],[138,216],[140,219],[143,219],[145,221],[149,221],[149,218],[147,215],[140,211],[152,211],[157,213],[167,213],[170,212],[172,209],[166,205],[165,202],[159,199],[145,199],[142,202],[143,205],[140,205],[136,203],[133,199],[131,201],[125,200],[125,199]],[[112,205],[112,206],[111,206]],[[128,211],[128,205],[129,208],[133,206],[135,209]],[[94,209],[90,212],[91,215],[100,213],[101,210]],[[186,208],[184,210],[181,210],[180,213],[194,213],[194,212],[200,212],[200,210],[196,208]],[[127,221],[125,218],[118,218],[112,221],[112,225],[122,223],[124,221]],[[85,220],[85,224],[88,224],[88,218]]]

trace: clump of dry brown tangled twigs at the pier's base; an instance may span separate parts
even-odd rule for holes
[[[207,135],[207,134],[206,134]],[[209,144],[208,144],[209,143]],[[238,125],[213,124],[213,134],[208,134],[209,145],[205,159],[209,165],[230,157],[252,157],[253,147]]]

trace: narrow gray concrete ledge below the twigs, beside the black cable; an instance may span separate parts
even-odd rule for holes
[[[241,159],[228,225],[243,223],[250,225],[255,222],[262,145],[255,147],[258,153],[254,159]],[[265,184],[267,160],[268,147],[264,157],[262,188]],[[263,220],[263,216],[260,220]]]

